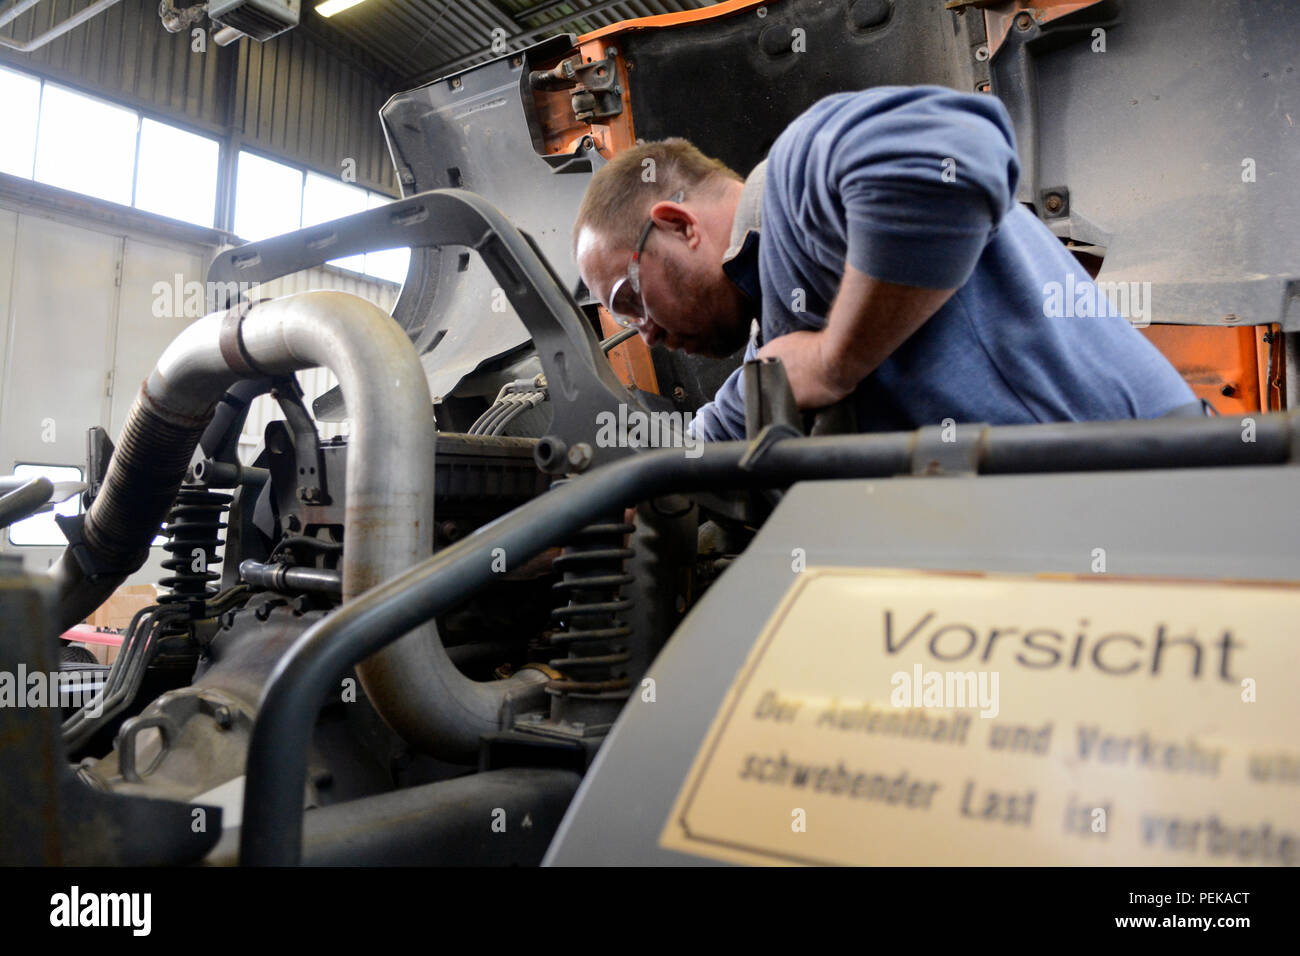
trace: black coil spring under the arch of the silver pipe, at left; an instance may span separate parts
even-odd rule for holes
[[[172,555],[162,562],[162,567],[172,574],[159,580],[159,587],[169,589],[169,593],[159,597],[159,604],[187,605],[191,622],[203,618],[204,604],[217,593],[212,581],[221,575],[211,568],[218,559],[220,535],[226,527],[221,519],[229,506],[229,494],[209,492],[204,485],[181,485],[162,527],[168,537],[162,550]],[[186,631],[187,624],[169,630]]]

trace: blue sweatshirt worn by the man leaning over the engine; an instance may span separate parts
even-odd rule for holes
[[[883,281],[957,290],[858,385],[863,432],[945,419],[1156,418],[1193,402],[1174,367],[1015,202],[1018,177],[1011,121],[994,96],[918,86],[818,101],[767,159],[763,342],[824,326],[848,263]],[[1149,294],[1139,302],[1149,316]],[[751,342],[746,358],[754,352]],[[740,369],[693,431],[706,441],[745,437]]]

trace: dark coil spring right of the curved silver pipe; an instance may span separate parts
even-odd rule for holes
[[[633,580],[623,570],[623,562],[633,557],[623,541],[633,531],[633,525],[621,520],[589,524],[555,559],[555,570],[563,578],[552,588],[567,597],[567,604],[551,611],[556,630],[547,639],[567,656],[551,659],[550,666],[568,679],[551,680],[546,685],[549,693],[628,696],[632,680],[621,665],[630,659],[627,639],[632,628],[619,615],[632,607],[621,588]]]

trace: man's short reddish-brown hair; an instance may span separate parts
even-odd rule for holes
[[[624,150],[592,177],[573,221],[573,251],[584,226],[618,247],[632,248],[651,206],[677,190],[686,199],[702,190],[720,191],[728,179],[740,182],[744,177],[686,139],[660,139]]]

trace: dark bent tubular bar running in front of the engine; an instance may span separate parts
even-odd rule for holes
[[[682,449],[637,454],[554,488],[343,605],[294,643],[263,695],[248,748],[240,864],[299,862],[307,754],[321,702],[355,663],[497,579],[497,549],[515,568],[601,515],[671,493],[909,473],[939,433],[785,438],[757,460],[745,460],[748,442],[706,445],[696,458]],[[985,473],[1283,464],[1295,460],[1300,414],[963,425],[962,433]]]

